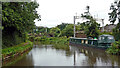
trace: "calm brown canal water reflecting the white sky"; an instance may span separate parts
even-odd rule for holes
[[[118,56],[106,54],[103,50],[69,46],[70,50],[55,49],[52,45],[34,45],[33,49],[16,58],[9,66],[120,66]],[[3,66],[9,64],[5,62]]]

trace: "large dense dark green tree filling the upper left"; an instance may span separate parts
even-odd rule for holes
[[[26,41],[28,32],[35,27],[35,19],[40,20],[36,2],[2,3],[2,39],[3,45],[16,45]]]

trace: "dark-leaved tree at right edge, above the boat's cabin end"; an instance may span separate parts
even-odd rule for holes
[[[116,40],[120,40],[120,1],[115,1],[114,4],[110,6],[111,13],[109,15],[109,21],[114,24],[116,19],[118,18],[118,24],[116,28],[113,29],[113,35]]]

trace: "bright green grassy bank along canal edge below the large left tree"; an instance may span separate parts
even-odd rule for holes
[[[24,52],[30,50],[33,46],[33,43],[28,41],[21,43],[16,46],[8,47],[5,49],[2,49],[2,60],[5,61],[11,57],[15,57],[17,55],[21,55]]]

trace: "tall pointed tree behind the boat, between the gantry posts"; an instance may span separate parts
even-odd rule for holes
[[[86,26],[83,27],[83,29],[85,30],[85,34],[87,35],[87,37],[93,37],[93,38],[98,38],[99,36],[99,27],[100,24],[98,24],[96,22],[96,20],[93,18],[93,16],[89,13],[89,8],[87,6],[87,12],[85,12],[84,14],[81,14],[81,17],[88,19],[88,21],[84,22],[82,25]]]

